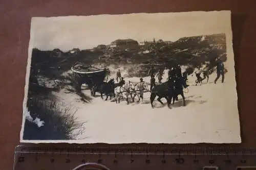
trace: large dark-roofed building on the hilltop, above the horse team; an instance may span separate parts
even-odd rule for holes
[[[139,48],[139,43],[138,41],[135,41],[133,39],[117,39],[111,42],[111,47],[118,47],[123,50],[125,50],[126,48],[135,50]]]

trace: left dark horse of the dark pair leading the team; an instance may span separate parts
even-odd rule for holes
[[[174,96],[174,83],[172,80],[168,80],[167,82],[164,82],[162,84],[156,85],[152,88],[151,90],[151,95],[150,95],[150,102],[152,108],[153,102],[158,96],[157,100],[163,105],[163,102],[161,101],[162,98],[165,98],[167,100],[168,107],[170,108],[170,103],[172,102],[172,98]]]

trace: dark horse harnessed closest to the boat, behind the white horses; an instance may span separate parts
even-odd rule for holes
[[[110,100],[111,100],[112,95],[114,95],[114,97],[115,97],[114,85],[115,85],[114,79],[110,79],[109,82],[103,82],[101,85],[96,86],[94,88],[94,93],[100,92],[101,99],[103,99],[103,93],[104,93],[106,95],[105,101],[108,100],[109,96],[110,96]]]

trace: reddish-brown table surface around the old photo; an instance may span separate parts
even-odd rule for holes
[[[2,0],[0,5],[0,170],[12,169],[14,148],[19,144],[30,19],[33,16],[231,10],[242,135],[242,143],[233,145],[256,147],[255,7],[255,0]],[[177,144],[175,146],[177,147]],[[216,145],[216,147],[221,146]]]

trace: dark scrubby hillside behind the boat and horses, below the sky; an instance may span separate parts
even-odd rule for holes
[[[127,47],[98,45],[90,50],[73,48],[68,52],[62,52],[59,49],[40,51],[34,48],[31,76],[39,74],[49,79],[58,79],[76,62],[94,64],[99,67],[127,66],[127,77],[143,77],[152,65],[158,68],[179,63],[189,66],[189,72],[191,72],[194,67],[205,62],[208,62],[210,67],[214,67],[217,57],[221,56],[224,61],[226,60],[225,34],[183,37],[175,42],[164,42],[161,40],[146,43],[139,45],[139,49],[129,48],[129,45]]]

